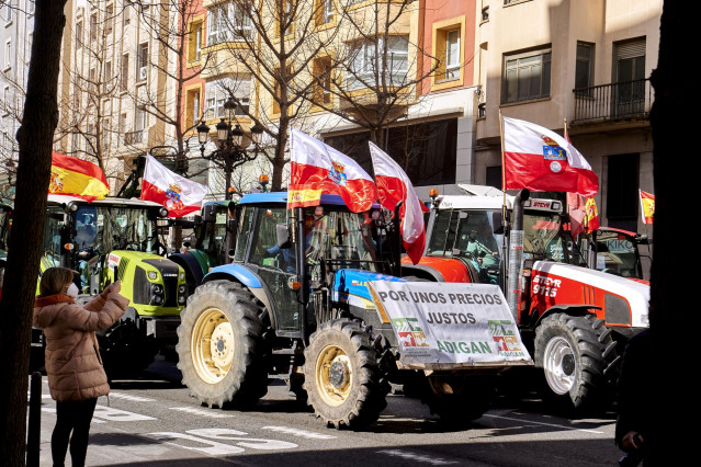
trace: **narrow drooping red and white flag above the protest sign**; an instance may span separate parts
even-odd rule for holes
[[[411,262],[418,264],[426,247],[423,213],[428,213],[429,209],[416,195],[411,181],[399,164],[372,141],[369,141],[369,145],[372,164],[375,168],[380,204],[394,212],[397,203],[402,202],[399,227],[404,248]]]

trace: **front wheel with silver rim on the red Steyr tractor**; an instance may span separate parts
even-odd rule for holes
[[[611,395],[604,371],[614,348],[603,320],[592,315],[544,318],[535,329],[535,366],[545,376],[544,398],[576,410],[601,407]]]

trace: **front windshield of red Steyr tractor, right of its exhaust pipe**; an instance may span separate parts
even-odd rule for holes
[[[556,213],[527,212],[523,215],[523,252],[525,258],[565,261]]]

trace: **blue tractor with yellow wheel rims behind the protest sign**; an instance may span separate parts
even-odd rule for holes
[[[319,206],[287,209],[286,197],[239,201],[233,263],[212,269],[188,299],[177,351],[191,396],[247,409],[267,394],[269,378],[281,378],[337,429],[376,421],[391,384],[412,387],[449,424],[488,410],[495,377],[509,363],[431,371],[400,364],[393,323],[366,286],[409,284],[397,275],[398,254],[385,254],[398,252],[387,249],[398,228],[376,228],[380,206],[353,213],[325,194]]]

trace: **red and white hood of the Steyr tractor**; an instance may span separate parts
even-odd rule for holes
[[[649,285],[638,281],[572,264],[538,261],[533,264],[531,287],[540,300],[599,306],[610,326],[649,326]]]

